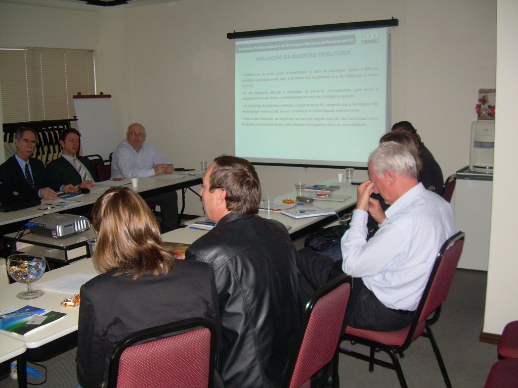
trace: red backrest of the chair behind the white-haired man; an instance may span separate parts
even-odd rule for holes
[[[457,232],[442,245],[430,277],[415,310],[415,319],[410,329],[409,340],[415,339],[421,333],[414,333],[416,327],[424,327],[424,321],[431,313],[436,311],[445,301],[450,291],[450,287],[455,276],[458,260],[461,258],[462,248],[464,247],[464,232]]]

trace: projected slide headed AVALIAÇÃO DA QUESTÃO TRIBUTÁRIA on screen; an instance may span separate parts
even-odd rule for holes
[[[366,166],[387,127],[387,28],[236,40],[236,155]]]

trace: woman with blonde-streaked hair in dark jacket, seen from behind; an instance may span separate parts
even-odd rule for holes
[[[114,187],[94,204],[98,232],[93,258],[100,275],[81,287],[77,377],[103,386],[114,347],[128,334],[182,319],[221,322],[212,267],[178,260],[162,245],[159,225],[143,199]],[[216,380],[216,379],[215,379]]]

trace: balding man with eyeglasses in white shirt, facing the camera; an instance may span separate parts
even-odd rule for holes
[[[146,128],[139,123],[128,126],[126,139],[121,141],[111,159],[111,179],[141,178],[172,174],[172,163],[155,146],[146,141]],[[162,233],[178,228],[178,195],[176,191],[145,197],[160,205]]]

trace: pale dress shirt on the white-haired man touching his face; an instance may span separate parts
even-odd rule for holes
[[[343,272],[361,277],[386,307],[414,311],[437,253],[455,233],[450,204],[420,183],[385,212],[367,242],[368,213],[354,210],[341,240]]]

